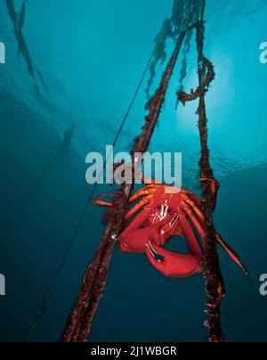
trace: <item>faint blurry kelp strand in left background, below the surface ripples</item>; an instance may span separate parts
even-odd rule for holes
[[[49,174],[50,170],[53,168],[55,162],[59,160],[59,158],[68,150],[69,144],[71,143],[72,135],[74,132],[75,124],[74,122],[71,123],[71,126],[65,130],[63,135],[63,140],[61,143],[60,149],[56,152],[56,154],[53,156],[53,159],[48,164],[47,168],[44,169],[43,174],[40,176],[38,181],[36,182],[35,186],[31,190],[31,192],[28,193],[27,199],[23,202],[18,212],[15,214],[15,216],[12,218],[10,224],[4,231],[3,235],[1,236],[0,245],[3,247],[5,241],[8,239],[9,235],[12,233],[14,227],[16,226],[16,222],[20,219],[21,215],[27,209],[29,202],[36,196],[36,193],[39,191],[40,187],[44,183],[44,180],[46,176]]]

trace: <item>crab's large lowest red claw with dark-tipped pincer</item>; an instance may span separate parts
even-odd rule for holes
[[[192,254],[176,254],[149,241],[146,253],[152,266],[169,277],[186,277],[202,271],[201,258]]]

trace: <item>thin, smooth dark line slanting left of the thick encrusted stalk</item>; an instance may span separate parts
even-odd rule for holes
[[[152,54],[151,54],[151,56],[150,56],[150,60],[148,61],[147,66],[145,67],[145,69],[144,69],[144,71],[143,71],[143,73],[142,73],[142,78],[140,79],[140,81],[139,81],[139,83],[138,83],[138,85],[137,85],[137,87],[136,87],[136,90],[135,90],[135,92],[134,92],[133,98],[132,98],[131,102],[129,103],[129,106],[128,106],[126,112],[125,112],[125,116],[124,116],[124,118],[122,119],[122,122],[121,122],[121,124],[120,124],[120,127],[119,127],[118,130],[117,130],[117,135],[115,136],[115,139],[114,139],[114,141],[113,141],[113,147],[116,146],[117,140],[119,139],[119,136],[121,135],[122,130],[123,130],[123,128],[125,127],[125,122],[126,122],[126,120],[128,119],[128,116],[129,116],[129,114],[130,114],[130,111],[131,111],[132,108],[133,108],[133,105],[134,105],[135,99],[136,99],[136,97],[137,97],[137,94],[139,93],[139,91],[140,91],[140,89],[141,89],[141,86],[142,86],[142,83],[143,83],[143,80],[144,80],[144,78],[145,78],[145,76],[146,76],[146,74],[147,74],[147,72],[148,72],[148,70],[149,70],[151,59],[152,59]],[[111,152],[109,152],[109,155],[108,155],[107,159],[105,160],[105,163],[104,163],[103,168],[105,168],[105,166],[106,166],[106,164],[107,164],[110,156],[111,156]],[[101,174],[100,174],[100,176],[99,176],[98,179],[101,178],[102,172],[103,172],[103,169],[101,170]],[[79,233],[79,231],[80,231],[81,226],[84,224],[85,215],[86,215],[87,209],[88,209],[88,207],[90,206],[90,204],[91,204],[91,202],[92,202],[92,200],[93,200],[93,195],[94,195],[97,187],[98,187],[98,182],[96,182],[96,183],[93,185],[93,189],[92,189],[92,191],[90,192],[90,194],[89,194],[89,196],[88,196],[88,198],[87,198],[87,200],[86,200],[86,202],[85,202],[85,207],[84,207],[84,209],[83,209],[80,217],[78,218],[77,225],[76,225],[73,233],[71,234],[71,236],[70,236],[70,238],[69,238],[69,241],[68,241],[68,243],[67,243],[67,248],[66,248],[66,250],[65,250],[65,252],[64,252],[64,254],[63,254],[63,257],[62,257],[62,259],[61,259],[61,262],[60,262],[59,266],[56,268],[56,270],[55,270],[55,272],[54,272],[54,274],[53,274],[53,278],[52,278],[52,280],[51,280],[51,282],[50,282],[50,284],[49,284],[49,286],[48,286],[48,289],[46,290],[46,292],[45,292],[45,294],[44,294],[44,299],[42,300],[41,306],[38,307],[38,309],[37,309],[37,311],[36,311],[36,315],[35,315],[35,317],[34,317],[34,319],[33,319],[33,322],[32,322],[32,324],[31,324],[31,326],[30,326],[30,328],[29,328],[27,337],[26,337],[26,339],[25,339],[26,342],[28,342],[28,341],[31,339],[32,335],[34,334],[34,332],[35,332],[35,330],[36,330],[36,325],[37,325],[37,323],[40,321],[41,316],[42,316],[42,315],[44,314],[44,312],[45,312],[45,309],[46,309],[46,306],[47,306],[47,302],[48,302],[48,300],[50,299],[50,295],[51,295],[51,293],[52,293],[53,290],[54,290],[54,287],[55,287],[55,285],[56,285],[57,279],[58,279],[59,275],[61,274],[61,270],[62,270],[62,268],[64,267],[67,258],[69,257],[69,253],[70,253],[70,250],[72,249],[72,245],[73,245],[74,241],[76,241],[76,239],[77,239],[77,235],[78,235],[78,233]]]

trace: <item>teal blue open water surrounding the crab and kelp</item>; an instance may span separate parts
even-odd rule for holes
[[[7,4],[20,12],[19,26]],[[0,341],[27,338],[92,191],[85,156],[113,143],[172,7],[173,0],[0,0],[6,51],[0,65],[0,274],[6,279]],[[206,2],[205,53],[216,71],[206,111],[221,183],[214,224],[250,271],[247,278],[219,250],[227,341],[266,340],[267,298],[259,293],[259,277],[267,273],[267,64],[259,61],[266,16],[265,0]],[[172,49],[170,42],[168,55]],[[182,152],[182,186],[199,193],[197,102],[176,109],[181,63],[182,54],[150,151]],[[196,87],[196,64],[193,36],[185,89]],[[151,94],[165,66],[158,66]],[[116,151],[128,151],[140,133],[148,79],[149,73]],[[100,185],[96,194],[107,190]],[[60,339],[101,239],[102,211],[88,207],[31,341]],[[90,341],[205,341],[205,301],[201,274],[166,278],[144,256],[116,249]]]

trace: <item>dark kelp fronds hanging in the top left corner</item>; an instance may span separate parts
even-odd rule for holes
[[[24,38],[23,32],[22,32],[22,29],[23,29],[23,26],[25,23],[25,19],[26,19],[26,3],[27,2],[28,2],[28,0],[25,0],[23,2],[21,9],[20,9],[20,13],[17,13],[15,10],[13,0],[5,0],[5,4],[7,7],[9,17],[12,20],[14,35],[18,42],[18,56],[19,57],[21,56],[26,61],[29,76],[36,80],[36,74],[37,74],[41,80],[44,90],[48,93],[47,87],[45,86],[45,83],[44,83],[44,78],[43,78],[42,74],[40,73],[40,71],[36,70],[36,67],[31,59],[29,52],[28,52],[28,45],[25,41],[25,38]],[[40,91],[39,91],[37,84],[36,84],[36,92],[37,92],[37,94],[40,95]]]

